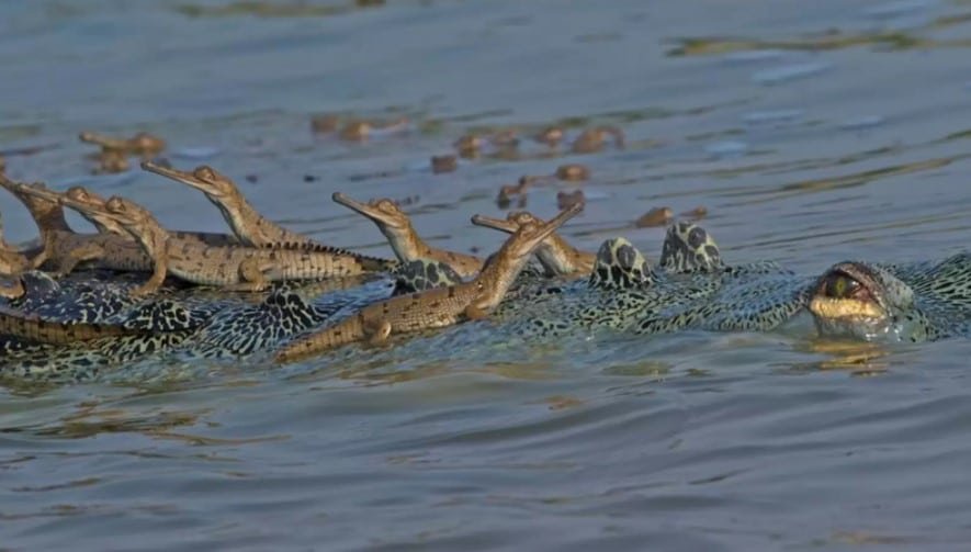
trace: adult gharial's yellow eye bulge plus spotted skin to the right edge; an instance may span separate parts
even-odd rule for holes
[[[809,309],[823,335],[932,341],[971,335],[971,254],[940,262],[840,262],[820,277]]]

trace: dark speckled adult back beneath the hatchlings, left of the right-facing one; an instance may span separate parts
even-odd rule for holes
[[[87,282],[78,283],[82,294]],[[42,296],[24,302],[20,308],[35,308],[45,313],[45,318],[56,320],[97,319],[140,331],[64,345],[36,343],[0,335],[0,376],[76,382],[91,380],[110,368],[137,363],[146,358],[246,358],[272,350],[285,339],[320,327],[336,313],[355,312],[386,293],[384,286],[360,286],[349,293],[327,294],[308,303],[301,297],[303,289],[274,290],[262,302],[249,303],[238,296],[221,297],[213,292],[214,296],[206,294],[200,303],[197,293],[190,292],[178,301],[127,301],[128,306],[121,309],[102,308],[104,301],[95,293],[79,296],[79,302],[88,306],[84,312],[76,312],[75,302],[66,301],[67,296],[59,293],[67,291],[70,294],[72,290],[58,290],[57,282],[47,283],[55,286],[53,293],[43,289],[44,282],[35,282],[41,289],[31,288],[29,295]],[[126,297],[115,298],[126,301]],[[108,302],[112,303],[111,300]],[[188,303],[191,309],[179,306],[183,303]],[[123,376],[137,378],[138,370],[137,365],[126,368]]]

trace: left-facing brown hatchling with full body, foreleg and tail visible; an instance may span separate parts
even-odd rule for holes
[[[183,241],[170,236],[146,209],[118,196],[104,203],[70,206],[108,214],[145,248],[154,270],[147,282],[132,291],[135,295],[157,291],[168,272],[197,284],[261,291],[271,281],[347,277],[394,268],[392,261],[318,246],[266,249]]]

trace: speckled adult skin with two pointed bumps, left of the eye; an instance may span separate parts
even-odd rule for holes
[[[588,282],[545,284],[507,301],[494,318],[513,337],[546,339],[613,329],[765,330],[802,311],[811,280],[771,263],[724,267],[714,241],[696,225],[669,228],[655,271],[622,238],[598,251]]]

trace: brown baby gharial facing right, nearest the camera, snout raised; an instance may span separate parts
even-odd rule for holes
[[[329,328],[294,340],[276,353],[275,360],[291,362],[357,341],[380,343],[392,331],[441,328],[464,319],[483,318],[503,300],[535,247],[580,209],[579,205],[567,209],[549,223],[520,226],[470,282],[368,305]]]

